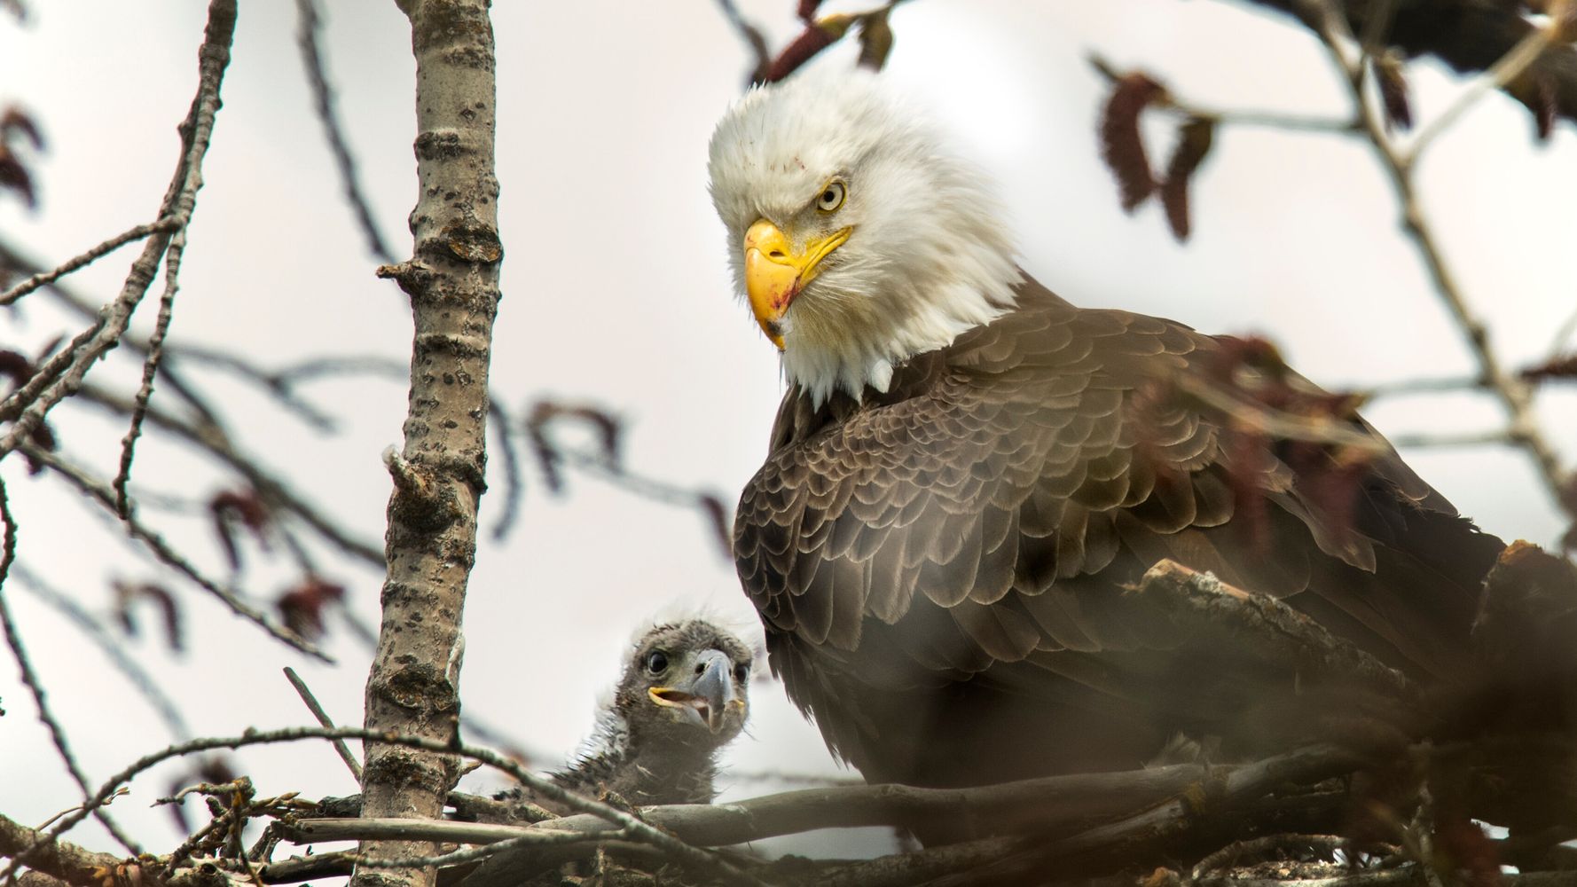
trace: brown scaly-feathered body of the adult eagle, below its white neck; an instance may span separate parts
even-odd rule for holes
[[[1252,745],[1254,707],[1298,676],[1172,652],[1123,606],[1161,559],[1281,597],[1419,680],[1463,677],[1500,541],[1389,450],[1336,519],[1310,496],[1318,466],[1235,453],[1221,417],[1151,396],[1221,349],[1027,281],[886,393],[817,407],[790,388],[735,556],[773,669],[834,751],[872,781],[978,784],[1139,765],[1180,729]]]

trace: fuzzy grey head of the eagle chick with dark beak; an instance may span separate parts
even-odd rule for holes
[[[711,622],[658,625],[636,644],[613,709],[632,742],[721,748],[749,715],[752,660],[749,647]]]

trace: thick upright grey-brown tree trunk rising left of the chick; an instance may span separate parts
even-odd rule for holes
[[[367,677],[366,726],[456,740],[460,612],[476,554],[483,494],[487,358],[498,306],[494,175],[494,35],[487,0],[399,0],[416,55],[415,256],[385,265],[410,295],[415,344],[405,447],[390,450],[388,578]],[[453,758],[369,743],[364,816],[437,818]],[[432,855],[432,844],[367,841],[374,859]],[[432,870],[356,870],[355,887],[429,887]]]

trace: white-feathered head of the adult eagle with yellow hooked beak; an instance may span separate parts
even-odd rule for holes
[[[744,95],[711,137],[735,289],[823,402],[1012,306],[1020,273],[989,180],[864,69]]]

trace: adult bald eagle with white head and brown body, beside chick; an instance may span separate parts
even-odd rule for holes
[[[1129,603],[1162,559],[1418,682],[1467,680],[1500,540],[1356,417],[1369,455],[1337,466],[1274,434],[1244,453],[1227,417],[1151,396],[1210,377],[1230,339],[1030,279],[987,177],[874,74],[749,92],[710,178],[788,385],[738,574],[788,696],[867,780],[1126,769],[1176,735],[1274,732],[1254,710],[1296,709],[1298,674],[1184,655]]]

